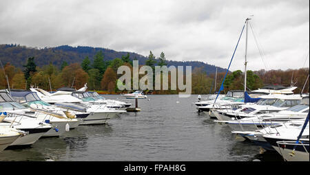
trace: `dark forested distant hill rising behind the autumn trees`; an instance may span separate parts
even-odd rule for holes
[[[36,47],[26,47],[21,45],[0,45],[0,60],[3,65],[6,62],[11,62],[15,67],[20,67],[23,69],[23,65],[26,64],[27,58],[34,56],[34,61],[37,66],[42,67],[43,65],[48,65],[52,62],[56,67],[61,67],[63,61],[70,63],[79,62],[88,56],[90,60],[93,60],[93,56],[98,52],[102,51],[105,60],[113,60],[114,58],[121,58],[121,56],[130,54],[130,59],[136,58],[139,60],[139,65],[144,65],[147,56],[142,56],[133,52],[127,51],[114,51],[112,49],[105,49],[100,47],[87,47],[78,46],[71,47],[68,45],[61,45],[59,47],[45,47],[43,49],[38,49]],[[204,67],[207,74],[215,73],[216,66],[208,65],[205,62],[200,61],[174,61],[167,60],[167,66],[192,66],[192,70],[195,67]],[[218,67],[218,72],[226,71],[221,67]]]

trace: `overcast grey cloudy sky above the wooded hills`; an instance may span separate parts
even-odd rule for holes
[[[264,58],[249,27],[248,69],[309,67],[309,0],[1,0],[0,44],[163,51],[168,60],[227,68],[250,15]],[[243,71],[244,62],[245,33],[230,70]]]

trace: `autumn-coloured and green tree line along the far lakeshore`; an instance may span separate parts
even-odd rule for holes
[[[136,58],[133,60],[136,60]],[[3,71],[0,71],[0,88],[6,89],[8,88],[8,84],[10,84],[10,89],[29,89],[30,86],[38,86],[41,89],[55,91],[62,86],[79,89],[87,82],[89,90],[120,93],[116,85],[121,75],[118,75],[116,72],[118,67],[122,65],[130,67],[132,70],[132,59],[130,59],[129,53],[121,56],[121,58],[107,60],[103,52],[98,51],[93,58],[85,56],[81,64],[78,62],[68,64],[68,62],[63,60],[60,68],[52,62],[39,67],[36,64],[35,58],[32,56],[28,58],[26,65],[23,65],[23,69],[14,67],[10,62],[6,62],[3,66]],[[167,65],[165,54],[161,52],[161,55],[156,58],[152,51],[149,51],[145,65],[152,67],[153,70],[155,65]],[[143,65],[139,65],[139,67],[141,66]],[[249,70],[247,71],[247,89],[251,91],[260,89],[266,84],[280,84],[284,86],[298,86],[298,89],[294,92],[300,93],[308,75],[309,68],[289,69],[286,71]],[[142,76],[139,75],[139,78]],[[195,67],[192,71],[192,93],[215,93],[220,88],[224,76],[225,72],[223,71],[215,75],[215,73],[208,74],[205,71],[205,67]],[[168,75],[169,84],[170,80],[170,75]],[[244,73],[240,70],[230,72],[223,85],[223,92],[244,89]],[[178,90],[158,90],[153,92],[157,94],[175,94],[178,93]],[[309,92],[309,81],[305,86],[304,92]]]

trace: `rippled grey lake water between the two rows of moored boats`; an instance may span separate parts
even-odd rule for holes
[[[108,99],[130,102],[121,95]],[[4,150],[0,161],[282,161],[277,152],[231,134],[228,126],[197,113],[197,95],[148,95],[139,113],[124,113],[108,125],[79,126],[31,148]]]

